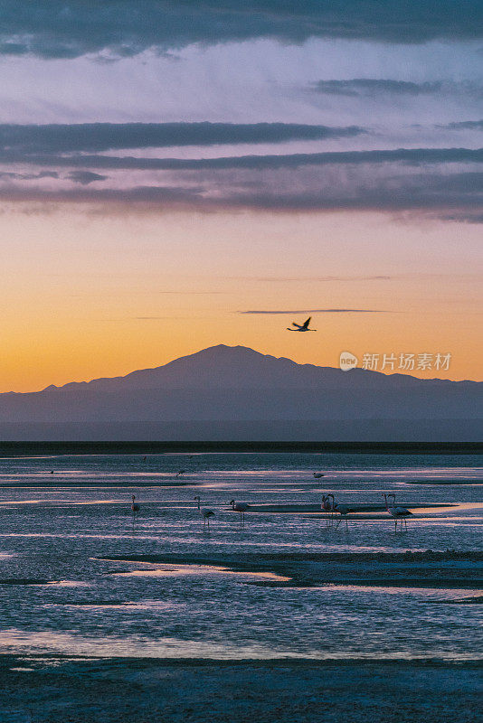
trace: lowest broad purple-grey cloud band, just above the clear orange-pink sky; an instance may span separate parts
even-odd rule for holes
[[[182,176],[183,185],[140,185],[52,190],[41,184],[7,183],[0,201],[90,204],[159,212],[412,211],[439,218],[478,221],[483,213],[483,172],[450,174],[430,167],[361,165],[321,171],[302,167],[253,174],[250,170],[204,171]]]

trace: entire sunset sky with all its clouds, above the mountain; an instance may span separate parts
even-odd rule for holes
[[[0,391],[218,343],[483,380],[480,0],[0,17]]]

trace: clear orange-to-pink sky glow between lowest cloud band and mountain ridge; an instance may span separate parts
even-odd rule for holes
[[[449,371],[412,373],[483,379],[477,225],[17,207],[0,230],[2,391],[125,374],[217,343],[327,366],[342,351],[450,352]],[[377,276],[389,278],[367,278]],[[286,331],[325,308],[386,313],[313,314],[317,333]],[[285,309],[301,313],[239,313]]]

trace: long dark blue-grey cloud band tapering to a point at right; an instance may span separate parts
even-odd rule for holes
[[[81,123],[44,126],[0,125],[0,148],[9,153],[51,154],[120,148],[281,143],[360,136],[358,126],[297,123]]]

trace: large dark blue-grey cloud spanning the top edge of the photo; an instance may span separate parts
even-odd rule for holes
[[[480,0],[3,0],[0,53],[126,58],[198,42],[311,37],[414,43],[483,36]]]

